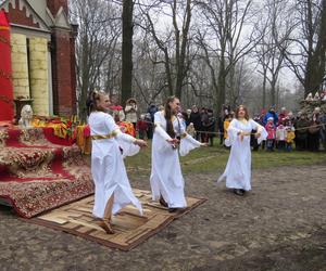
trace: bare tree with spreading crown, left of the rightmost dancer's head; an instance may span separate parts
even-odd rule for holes
[[[198,1],[198,5],[202,10],[203,25],[208,28],[198,31],[197,42],[203,49],[203,59],[211,69],[215,92],[214,107],[221,112],[226,101],[229,73],[239,60],[251,52],[259,40],[251,24],[253,1],[204,0]],[[244,26],[249,30],[247,38],[243,37]],[[208,37],[214,37],[214,40]],[[214,57],[218,60],[217,70],[212,65]]]

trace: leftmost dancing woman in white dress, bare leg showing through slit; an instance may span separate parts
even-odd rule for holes
[[[100,219],[100,225],[105,232],[112,234],[112,214],[115,215],[128,204],[135,205],[142,214],[141,205],[131,191],[123,155],[134,155],[139,152],[139,146],[146,146],[147,143],[120,130],[106,113],[110,107],[106,93],[93,91],[88,106],[88,124],[92,139],[91,173],[95,182],[92,214]]]

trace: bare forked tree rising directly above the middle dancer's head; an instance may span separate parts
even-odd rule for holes
[[[141,27],[151,34],[151,37],[147,37],[155,42],[162,53],[162,59],[158,60],[156,64],[164,65],[167,94],[175,94],[180,99],[191,63],[189,33],[192,2],[192,0],[186,0],[185,3],[177,0],[161,0],[156,1],[155,4],[148,5],[147,9],[141,9],[145,18],[145,24],[141,24]],[[171,20],[171,27],[163,35],[161,34],[162,30],[158,30],[155,26],[154,17],[160,17],[160,14]]]

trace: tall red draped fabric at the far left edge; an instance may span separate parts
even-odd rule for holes
[[[13,116],[10,26],[5,13],[0,11],[0,121],[12,120]]]

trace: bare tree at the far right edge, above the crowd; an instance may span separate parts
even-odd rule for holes
[[[286,60],[306,95],[318,91],[325,80],[326,0],[297,0],[294,7],[298,28]]]

